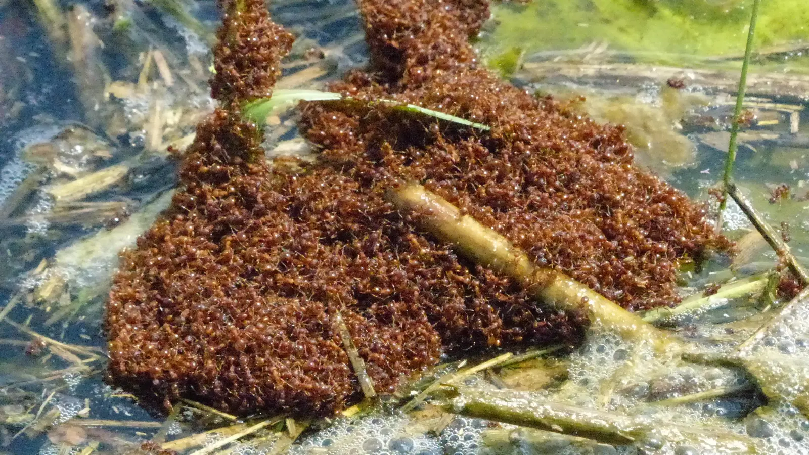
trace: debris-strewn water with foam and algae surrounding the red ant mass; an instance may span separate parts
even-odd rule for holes
[[[515,84],[587,96],[582,112],[625,124],[641,163],[709,200],[725,166],[748,3],[504,3],[477,45]],[[809,8],[802,0],[762,8],[735,176],[809,266]],[[353,2],[284,1],[271,11],[298,36],[284,88],[323,87],[366,61]],[[166,148],[186,146],[213,106],[205,84],[217,20],[211,0],[0,0],[0,453],[148,453],[146,441],[180,453],[809,453],[800,402],[809,392],[809,303],[736,359],[784,302],[767,284],[775,253],[733,202],[724,228],[744,240],[732,270],[722,257],[684,270],[682,292],[697,311],[663,315],[690,350],[725,362],[684,363],[595,324],[572,352],[464,376],[460,397],[332,423],[240,423],[196,403],[157,415],[106,385],[109,278],[117,252],[171,196]],[[271,123],[269,155],[307,152],[292,113]],[[701,299],[713,283],[726,286]],[[462,361],[448,360],[447,371]],[[582,439],[491,423],[475,418],[483,398],[535,415],[575,406],[558,422],[591,410],[626,427]],[[633,438],[609,440],[618,433]]]

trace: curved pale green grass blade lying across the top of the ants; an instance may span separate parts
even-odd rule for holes
[[[260,98],[259,100],[251,101],[244,104],[242,113],[249,121],[254,121],[256,124],[264,124],[269,113],[272,113],[277,108],[286,107],[290,104],[295,104],[299,101],[336,101],[336,100],[354,100],[353,98],[344,97],[339,93],[333,91],[319,91],[319,90],[276,90],[273,91],[273,96],[269,98]],[[356,101],[356,100],[354,100]],[[430,117],[435,117],[445,121],[451,121],[458,125],[472,126],[478,130],[488,131],[489,126],[474,121],[468,121],[465,118],[455,117],[448,113],[434,111],[433,109],[422,108],[415,104],[403,104],[396,100],[376,100],[376,104],[388,104],[392,108],[401,109],[411,113],[421,113]]]

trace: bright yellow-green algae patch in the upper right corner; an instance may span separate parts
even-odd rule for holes
[[[558,56],[565,54],[559,49],[594,43],[606,43],[609,51],[642,62],[740,59],[749,16],[748,2],[741,0],[504,2],[493,7],[496,27],[482,37],[480,46],[495,68],[512,62],[509,56],[515,49],[529,58],[543,52]],[[758,20],[755,46],[760,53],[788,52],[790,44],[805,40],[809,33],[809,9],[803,0],[769,0],[762,4]],[[792,59],[799,61],[806,66],[805,58]]]

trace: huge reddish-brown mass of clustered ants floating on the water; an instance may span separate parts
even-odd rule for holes
[[[219,108],[110,292],[116,385],[166,406],[188,397],[243,415],[330,415],[360,397],[338,315],[383,393],[448,352],[581,335],[576,317],[394,210],[383,193],[404,181],[625,308],[676,304],[678,264],[731,248],[704,206],[633,165],[620,127],[481,65],[468,39],[489,17],[484,0],[362,0],[371,62],[330,87],[359,102],[302,104],[318,158],[268,163],[240,106],[272,95],[293,38],[264,0],[220,3]],[[382,98],[491,130],[368,103]]]

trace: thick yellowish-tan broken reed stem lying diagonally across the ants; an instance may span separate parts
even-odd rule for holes
[[[548,267],[535,266],[523,251],[506,237],[486,228],[447,200],[417,183],[388,189],[386,198],[403,214],[430,234],[446,241],[464,256],[497,274],[515,279],[544,304],[557,311],[586,313],[591,321],[617,330],[625,338],[653,342],[658,348],[670,347],[675,338],[658,330],[633,313]]]

